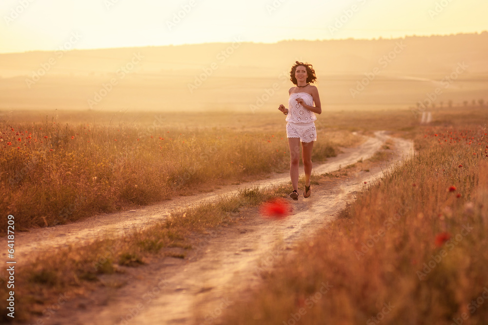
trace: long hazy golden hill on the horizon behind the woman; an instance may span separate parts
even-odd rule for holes
[[[488,32],[1,54],[0,109],[272,110],[297,59],[325,109],[409,107],[437,88],[438,105],[488,101],[487,53]]]

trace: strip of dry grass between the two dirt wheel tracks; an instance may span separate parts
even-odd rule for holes
[[[205,239],[205,233],[238,222],[240,214],[236,212],[243,208],[255,207],[277,195],[285,196],[285,188],[244,188],[216,203],[174,212],[166,221],[126,236],[101,238],[84,246],[72,244],[40,254],[16,273],[16,320],[41,316],[46,306],[56,303],[65,292],[85,296],[106,285],[100,281],[101,275],[138,267],[151,256],[184,258],[188,249],[201,245],[199,240]],[[7,297],[2,286],[0,299]],[[12,321],[5,314],[0,320]]]

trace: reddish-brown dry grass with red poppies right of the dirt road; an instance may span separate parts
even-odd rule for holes
[[[486,130],[415,131],[420,154],[263,274],[224,324],[487,324]]]

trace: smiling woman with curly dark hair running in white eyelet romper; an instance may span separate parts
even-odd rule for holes
[[[288,108],[280,105],[278,108],[286,116],[286,136],[290,146],[290,177],[293,192],[290,197],[298,200],[298,164],[300,162],[300,142],[302,142],[302,161],[305,172],[304,197],[309,197],[310,175],[312,174],[312,147],[317,140],[314,113],[321,114],[320,98],[317,87],[310,85],[317,77],[311,64],[295,62],[291,67],[290,80],[296,87],[288,91],[290,98]],[[314,106],[315,103],[315,106]]]

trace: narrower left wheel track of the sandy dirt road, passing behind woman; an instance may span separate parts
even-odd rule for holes
[[[368,137],[365,143],[356,148],[346,148],[344,153],[329,158],[327,163],[314,166],[314,172],[322,174],[339,169],[339,166],[347,166],[359,159],[367,159],[374,154],[386,140],[385,132],[376,132],[376,137]],[[303,170],[301,171],[301,175]],[[45,249],[67,246],[68,244],[83,245],[88,241],[99,238],[102,235],[114,236],[140,229],[143,226],[154,224],[166,218],[171,211],[185,206],[202,203],[205,200],[215,200],[219,196],[236,191],[238,188],[252,185],[269,186],[289,181],[288,173],[276,174],[266,180],[242,183],[238,186],[223,186],[219,190],[204,194],[178,197],[159,204],[145,206],[141,209],[97,214],[79,222],[60,225],[56,227],[33,229],[28,232],[16,234],[16,257],[18,263],[27,260],[29,256],[36,255]],[[2,252],[2,258],[6,258],[6,252]]]

